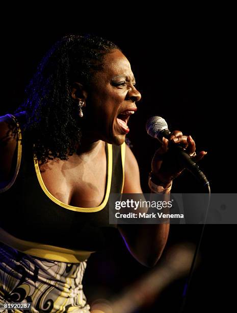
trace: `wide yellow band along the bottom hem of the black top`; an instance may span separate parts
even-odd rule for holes
[[[71,250],[54,245],[18,239],[0,228],[0,241],[22,253],[59,262],[80,263],[95,251]]]

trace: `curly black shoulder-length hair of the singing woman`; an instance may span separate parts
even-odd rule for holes
[[[15,111],[25,112],[24,136],[42,164],[67,160],[76,151],[82,135],[71,86],[75,81],[89,86],[93,72],[102,69],[104,55],[114,49],[120,50],[100,37],[67,35],[43,57],[25,90],[25,101]]]

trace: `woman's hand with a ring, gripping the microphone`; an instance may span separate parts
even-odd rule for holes
[[[163,143],[161,147],[155,151],[151,162],[152,173],[163,185],[168,185],[184,169],[172,149],[169,148],[169,141],[173,141],[174,144],[182,145],[191,157],[194,154],[195,156],[192,158],[195,162],[200,161],[206,154],[205,151],[200,151],[196,155],[196,146],[192,137],[183,136],[182,132],[179,130],[172,132],[170,140],[163,138]]]

